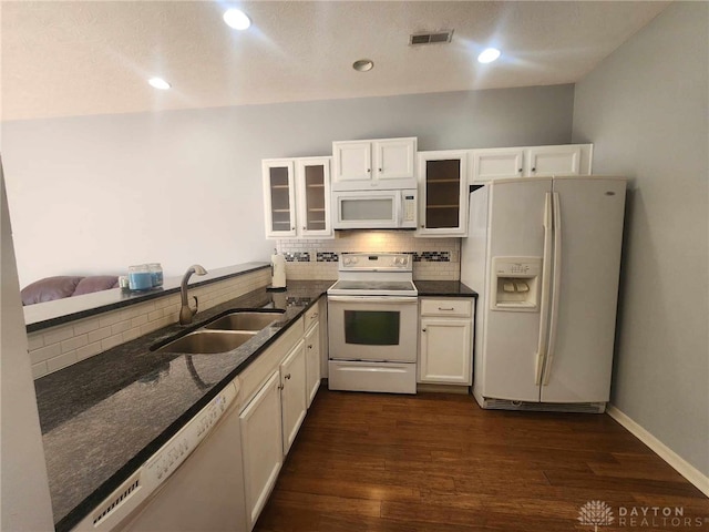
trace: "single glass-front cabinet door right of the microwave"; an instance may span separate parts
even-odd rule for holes
[[[419,152],[419,236],[467,233],[467,152]]]

